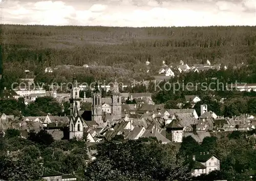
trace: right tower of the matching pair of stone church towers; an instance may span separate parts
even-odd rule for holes
[[[119,120],[122,118],[121,114],[121,95],[119,92],[119,86],[115,78],[115,83],[111,92],[111,115],[113,119]]]

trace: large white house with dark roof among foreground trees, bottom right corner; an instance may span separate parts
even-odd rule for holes
[[[200,152],[200,154],[193,154],[192,156],[193,161],[197,161],[206,167],[201,166],[201,168],[194,170],[192,175],[197,176],[203,174],[203,172],[208,174],[211,171],[220,170],[220,160],[216,155],[209,152]]]

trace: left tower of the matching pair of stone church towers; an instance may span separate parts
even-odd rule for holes
[[[102,99],[101,99],[101,91],[98,87],[98,84],[95,84],[94,90],[92,90],[92,118],[96,123],[103,123],[102,120]]]

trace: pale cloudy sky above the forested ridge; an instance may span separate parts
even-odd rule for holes
[[[256,26],[256,0],[0,0],[1,24]]]

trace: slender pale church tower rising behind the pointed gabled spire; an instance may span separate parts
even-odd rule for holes
[[[71,88],[70,94],[70,115],[74,115],[75,113],[75,104],[77,106],[77,110],[80,110],[80,98],[79,98],[80,87],[77,84],[76,78],[73,78],[73,85]]]

